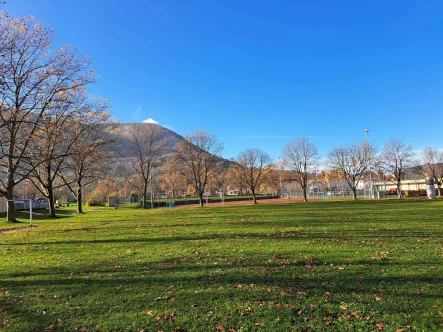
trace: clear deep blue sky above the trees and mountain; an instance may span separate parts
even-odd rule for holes
[[[443,147],[443,2],[7,0],[92,55],[125,122],[202,126],[273,158],[369,138]]]

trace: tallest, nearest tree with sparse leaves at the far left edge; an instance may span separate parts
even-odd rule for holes
[[[62,94],[94,81],[89,60],[69,46],[51,51],[54,31],[33,18],[11,18],[0,12],[0,194],[14,199],[14,188],[33,167],[27,152],[42,120]],[[15,221],[8,202],[8,221]]]

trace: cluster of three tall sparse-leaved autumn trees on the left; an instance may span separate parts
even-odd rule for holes
[[[32,17],[0,12],[0,194],[15,221],[14,193],[31,181],[49,200],[67,186],[81,202],[82,186],[111,157],[109,102],[91,99],[96,81],[87,56],[69,45],[51,49],[54,31]],[[81,205],[79,206],[81,212]]]

